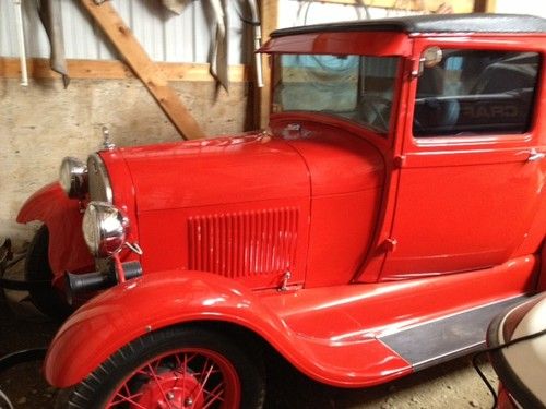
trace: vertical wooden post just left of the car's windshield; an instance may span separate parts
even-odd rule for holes
[[[262,22],[262,43],[265,43],[271,32],[278,27],[278,0],[261,0],[260,16]],[[269,123],[271,108],[271,67],[270,56],[262,55],[263,88],[259,88],[257,118],[259,128]]]

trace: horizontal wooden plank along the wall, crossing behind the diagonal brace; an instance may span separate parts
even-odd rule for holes
[[[51,71],[49,60],[29,58],[26,60],[28,76],[34,79],[59,79]],[[135,75],[122,61],[114,60],[67,60],[71,79],[75,80],[124,80]],[[209,72],[209,64],[156,62],[167,81],[214,82]],[[234,83],[248,82],[249,72],[246,65],[229,65],[229,81]],[[16,79],[21,75],[21,65],[16,58],[0,57],[0,77]]]

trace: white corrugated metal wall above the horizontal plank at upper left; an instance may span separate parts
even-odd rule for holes
[[[123,21],[131,27],[153,60],[171,62],[206,62],[211,44],[206,2],[192,1],[176,15],[161,5],[159,0],[112,0]],[[236,1],[229,3],[229,63],[245,63],[248,52],[245,25],[236,12]],[[116,51],[105,41],[78,1],[61,0],[67,58],[114,59]],[[35,2],[23,0],[26,53],[49,57],[49,44],[39,22]],[[0,0],[0,56],[19,57],[15,12],[12,0]]]

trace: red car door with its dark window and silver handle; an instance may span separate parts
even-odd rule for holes
[[[416,39],[417,58],[430,46],[442,58],[411,80],[395,245],[381,280],[475,270],[520,255],[544,197],[541,43]]]

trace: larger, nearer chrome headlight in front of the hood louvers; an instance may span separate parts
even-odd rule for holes
[[[126,242],[129,219],[109,203],[90,202],[83,215],[83,238],[95,257],[116,254]]]

